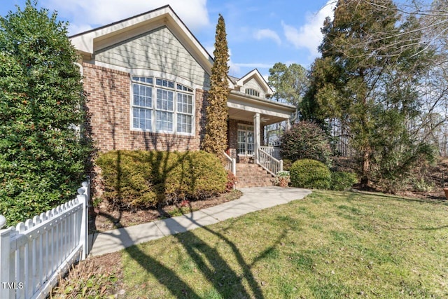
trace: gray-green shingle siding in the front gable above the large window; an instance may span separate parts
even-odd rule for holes
[[[127,69],[172,74],[204,88],[210,85],[209,74],[166,26],[98,50],[94,60]]]

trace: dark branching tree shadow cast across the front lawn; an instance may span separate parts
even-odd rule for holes
[[[173,263],[177,263],[176,269],[173,270],[167,265],[164,265],[158,256],[148,254],[148,251],[142,249],[141,246],[127,247],[124,249],[126,254],[130,259],[139,264],[148,277],[155,278],[175,298],[204,298],[208,296],[213,297],[214,295],[219,295],[220,298],[265,298],[259,281],[253,275],[252,267],[260,260],[269,259],[272,251],[286,237],[288,232],[287,228],[283,229],[283,232],[272,243],[272,246],[269,246],[269,248],[253,258],[252,263],[247,263],[239,246],[232,239],[225,236],[223,232],[218,232],[207,226],[202,227],[202,230],[218,238],[218,242],[214,243],[214,245],[204,242],[204,238],[207,238],[207,233],[201,237],[195,231],[178,233],[179,228],[187,230],[185,226],[201,226],[191,214],[183,215],[183,217],[188,219],[188,224],[182,221],[182,225],[175,218],[169,219],[172,222],[172,225],[168,227],[170,228],[169,233],[176,239],[176,243],[185,250],[184,256],[180,253],[178,260],[172,261]],[[119,223],[119,219],[113,218],[112,216],[110,221]],[[127,234],[126,230],[121,230],[120,234],[116,237],[120,238],[123,244],[132,244],[132,237]],[[218,249],[218,244],[220,243],[225,244],[230,249],[228,250],[228,252],[230,251],[228,253],[230,258],[225,258],[220,253]],[[172,242],[169,242],[167,239],[167,246],[172,246],[171,244]],[[235,262],[230,263],[229,259],[235,260]],[[183,276],[184,273],[186,276]],[[198,288],[195,288],[194,285],[195,282],[186,280],[194,279],[194,277],[197,277],[197,274],[200,274],[205,280],[209,281],[212,288],[209,290],[203,288],[204,291],[198,293]],[[145,288],[144,291],[146,289],[148,292],[151,291],[151,286],[146,282],[141,282],[143,284],[142,286],[138,284],[137,281],[135,285],[127,284],[127,288],[141,287]]]

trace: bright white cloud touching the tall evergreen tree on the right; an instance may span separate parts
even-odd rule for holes
[[[306,48],[312,56],[318,56],[318,46],[322,41],[321,27],[326,17],[332,17],[336,2],[329,0],[320,11],[307,15],[307,22],[298,29],[281,22],[286,39],[295,48]]]

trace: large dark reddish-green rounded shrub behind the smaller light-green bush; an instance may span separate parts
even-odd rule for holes
[[[283,159],[312,159],[330,167],[331,148],[327,134],[315,123],[301,121],[281,137]]]

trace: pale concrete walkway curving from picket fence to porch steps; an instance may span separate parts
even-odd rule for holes
[[[90,256],[119,251],[134,244],[186,232],[252,211],[286,204],[293,200],[301,200],[311,193],[310,190],[306,189],[281,187],[241,188],[239,190],[243,193],[239,199],[214,207],[193,211],[193,213],[182,216],[90,235],[90,239],[93,240]]]

